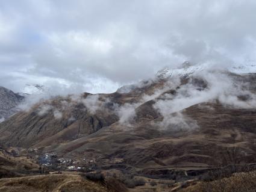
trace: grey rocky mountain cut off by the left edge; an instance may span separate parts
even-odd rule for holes
[[[17,105],[23,101],[23,96],[0,87],[0,122],[17,113]]]

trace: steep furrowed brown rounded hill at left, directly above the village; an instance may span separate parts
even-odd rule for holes
[[[54,144],[92,134],[115,120],[116,117],[111,113],[102,111],[100,114],[91,114],[79,102],[71,101],[70,98],[55,98],[3,122],[0,125],[0,138],[11,146],[29,147],[54,137],[54,141],[48,143]]]

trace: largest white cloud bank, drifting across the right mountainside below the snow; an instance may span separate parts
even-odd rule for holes
[[[229,108],[256,108],[256,94],[249,91],[248,82],[239,82],[226,71],[204,70],[195,73],[193,78],[197,78],[195,81],[198,84],[190,79],[187,84],[180,85],[175,94],[166,93],[156,99],[154,108],[163,116],[163,122],[160,123],[163,128],[178,125],[177,122],[183,128],[196,128],[196,122],[184,117],[181,112],[204,102],[219,101]]]

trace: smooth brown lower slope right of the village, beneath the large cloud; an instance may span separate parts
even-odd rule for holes
[[[207,168],[231,163],[234,158],[237,163],[254,162],[256,110],[229,110],[220,104],[203,104],[187,108],[183,114],[196,120],[198,128],[182,130],[172,125],[172,129],[161,129],[158,123],[162,119],[158,117],[132,128],[114,124],[54,150],[67,158],[81,153],[98,161],[99,155],[102,161],[122,158],[125,164],[143,169]],[[234,147],[236,156],[230,156]]]

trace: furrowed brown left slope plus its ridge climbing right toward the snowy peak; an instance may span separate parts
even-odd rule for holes
[[[152,94],[152,90],[163,85],[164,82],[155,82],[131,93],[84,93],[41,102],[1,123],[0,142],[31,147],[41,142],[51,145],[84,137],[117,122],[119,106],[139,102],[143,94]]]

